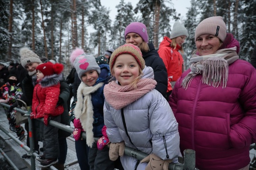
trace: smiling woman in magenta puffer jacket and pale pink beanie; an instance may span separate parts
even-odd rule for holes
[[[197,52],[169,97],[181,152],[195,150],[200,170],[248,170],[256,142],[256,69],[238,59],[239,43],[226,31],[222,17],[197,26]]]

